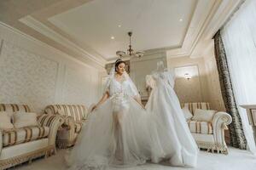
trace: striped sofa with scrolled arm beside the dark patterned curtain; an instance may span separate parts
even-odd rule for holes
[[[182,108],[188,108],[194,115],[196,109],[211,110],[207,102],[184,103]],[[212,150],[218,153],[228,154],[228,147],[224,139],[224,130],[232,122],[231,116],[224,111],[217,111],[210,122],[187,120],[189,130],[192,133],[199,148]]]

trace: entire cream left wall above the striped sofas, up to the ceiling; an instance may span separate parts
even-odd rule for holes
[[[99,71],[0,22],[0,103],[90,106],[100,95]]]

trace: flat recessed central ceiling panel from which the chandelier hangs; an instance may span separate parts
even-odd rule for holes
[[[196,0],[95,0],[49,21],[105,59],[113,59],[117,50],[128,48],[128,31],[133,31],[132,46],[138,50],[180,47],[195,4]]]

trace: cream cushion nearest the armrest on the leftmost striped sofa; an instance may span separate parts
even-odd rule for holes
[[[32,112],[15,112],[14,126],[15,128],[38,126],[37,113]]]

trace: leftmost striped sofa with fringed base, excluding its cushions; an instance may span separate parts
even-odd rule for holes
[[[28,105],[0,104],[0,111],[14,116],[16,112],[32,112]],[[38,126],[0,129],[0,169],[13,167],[39,156],[55,154],[57,129],[61,116],[37,116]]]

